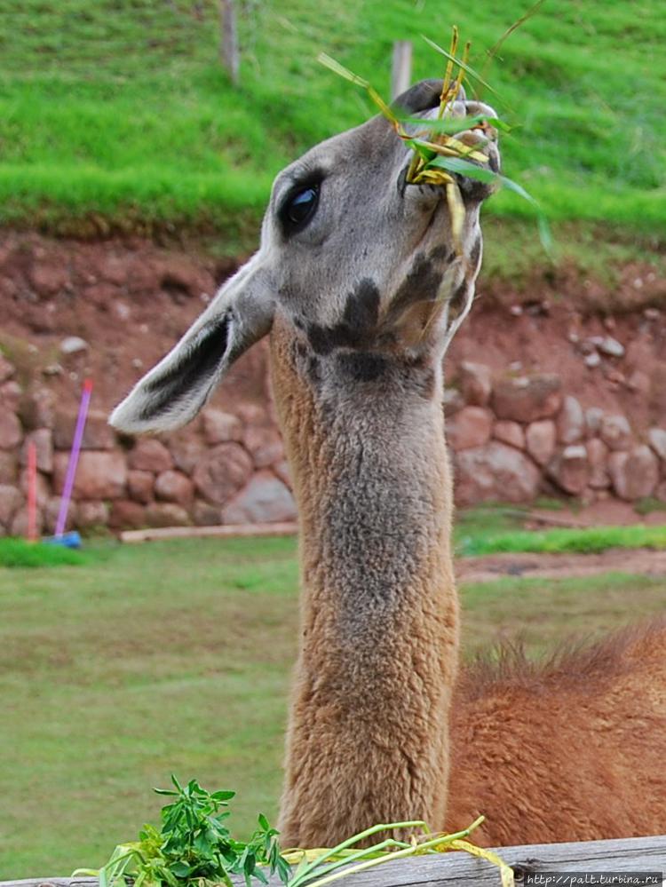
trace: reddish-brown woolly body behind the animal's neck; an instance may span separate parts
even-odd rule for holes
[[[666,832],[666,621],[467,669],[451,719],[447,828],[487,845]]]

